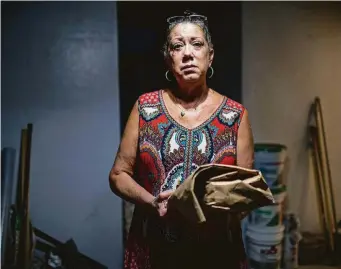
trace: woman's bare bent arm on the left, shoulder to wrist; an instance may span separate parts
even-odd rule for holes
[[[133,178],[139,135],[138,102],[128,118],[121,143],[110,171],[111,190],[122,199],[148,208],[155,207],[155,197],[140,186]]]

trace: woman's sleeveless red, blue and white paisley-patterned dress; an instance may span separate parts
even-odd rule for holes
[[[192,129],[182,126],[172,118],[165,106],[162,90],[141,95],[138,110],[139,140],[135,180],[154,196],[162,191],[175,190],[202,164],[236,164],[238,128],[244,113],[241,104],[224,97],[211,117]],[[135,207],[125,246],[125,269],[158,267],[153,265],[151,259],[152,243],[145,236],[145,219],[145,213]],[[226,268],[244,268],[246,263],[240,226],[233,233],[236,237],[233,244],[240,255],[234,253],[226,262],[238,266]],[[174,256],[168,252],[162,255]],[[175,259],[171,259],[173,258]],[[233,259],[234,261],[231,263],[230,259],[231,262]],[[161,267],[166,268],[165,265]],[[175,268],[179,268],[179,264]]]

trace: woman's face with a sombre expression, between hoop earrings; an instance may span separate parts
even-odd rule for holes
[[[213,60],[213,49],[202,29],[193,23],[180,23],[169,36],[168,65],[178,83],[206,79]]]

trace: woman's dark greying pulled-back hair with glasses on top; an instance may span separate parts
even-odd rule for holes
[[[166,31],[166,42],[164,43],[163,48],[162,48],[162,53],[165,58],[168,56],[168,46],[169,46],[169,39],[170,39],[169,36],[170,36],[171,31],[178,24],[186,23],[186,22],[193,23],[199,26],[201,30],[204,32],[204,36],[208,43],[208,46],[210,48],[213,48],[211,33],[208,29],[207,18],[203,15],[199,15],[197,13],[186,10],[184,12],[184,15],[182,16],[173,16],[167,19],[168,27]]]

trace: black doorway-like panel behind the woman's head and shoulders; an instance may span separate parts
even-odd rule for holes
[[[208,17],[215,48],[209,86],[241,101],[240,2],[117,2],[122,129],[141,93],[167,86],[160,52],[166,18],[186,9]]]

